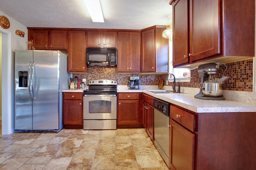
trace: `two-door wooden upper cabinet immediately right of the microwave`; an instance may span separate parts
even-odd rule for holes
[[[118,72],[140,72],[140,32],[118,32]]]

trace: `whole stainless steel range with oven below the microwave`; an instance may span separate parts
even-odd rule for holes
[[[117,81],[89,80],[84,90],[84,129],[116,129]]]

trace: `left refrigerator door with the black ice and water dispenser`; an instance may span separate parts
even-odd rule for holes
[[[22,84],[28,78],[29,64],[33,61],[33,51],[15,52],[15,130],[32,130],[32,100],[29,98],[28,86]],[[26,80],[28,81],[28,79]]]

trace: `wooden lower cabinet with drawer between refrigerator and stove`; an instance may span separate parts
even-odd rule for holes
[[[64,127],[83,128],[83,93],[63,93]]]

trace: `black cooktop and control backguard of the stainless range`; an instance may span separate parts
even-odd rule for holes
[[[89,80],[88,87],[84,95],[117,94],[116,80]]]

